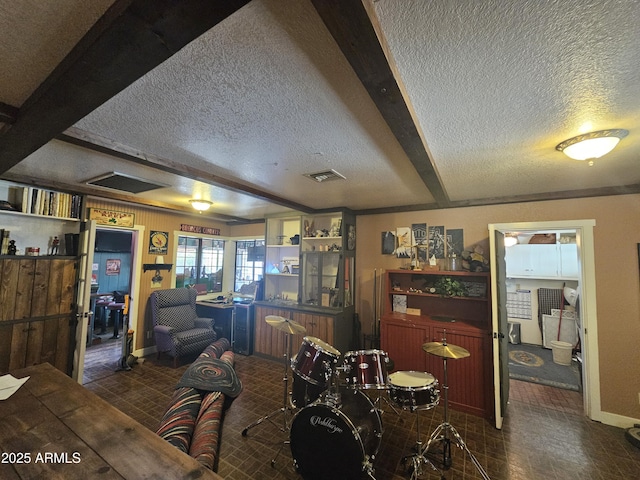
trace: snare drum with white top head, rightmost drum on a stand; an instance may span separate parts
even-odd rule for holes
[[[440,401],[438,381],[427,372],[402,371],[389,375],[389,396],[401,408],[427,410]]]

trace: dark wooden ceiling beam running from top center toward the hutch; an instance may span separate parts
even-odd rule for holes
[[[449,206],[440,176],[378,40],[362,0],[311,0],[438,207]]]

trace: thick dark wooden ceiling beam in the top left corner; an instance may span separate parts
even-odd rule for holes
[[[0,136],[0,174],[249,0],[116,0]]]

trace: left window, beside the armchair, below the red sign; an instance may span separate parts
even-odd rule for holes
[[[209,292],[222,291],[224,240],[178,237],[176,287],[205,284]]]

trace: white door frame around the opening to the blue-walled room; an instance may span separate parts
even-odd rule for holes
[[[112,225],[98,225],[94,220],[86,222],[83,228],[81,238],[81,262],[79,268],[78,283],[78,327],[76,330],[76,347],[73,357],[73,373],[72,378],[82,384],[84,376],[84,357],[86,354],[86,338],[88,334],[88,324],[86,319],[93,312],[90,311],[91,305],[91,274],[93,267],[93,254],[95,250],[96,230],[125,230],[132,232],[131,245],[131,287],[129,302],[129,319],[133,319],[134,324],[131,328],[134,330],[133,345],[135,345],[136,335],[138,333],[137,320],[138,309],[140,306],[140,278],[142,275],[142,254],[144,246],[144,225],[135,225],[133,227],[116,227]],[[124,327],[123,327],[124,328]],[[126,332],[123,332],[126,335]],[[114,364],[114,369],[116,365]]]

